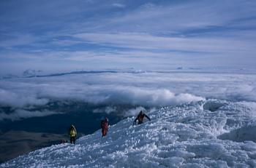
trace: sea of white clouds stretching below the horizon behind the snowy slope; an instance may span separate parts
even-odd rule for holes
[[[132,105],[120,111],[124,116],[135,115],[144,107],[154,109],[208,98],[255,102],[255,79],[253,73],[199,72],[84,73],[1,79],[0,105],[10,107],[12,113],[1,110],[0,120],[59,113],[45,109],[27,111],[55,100],[105,105],[105,113],[118,113],[116,105]],[[95,108],[93,112],[99,111],[102,109]]]

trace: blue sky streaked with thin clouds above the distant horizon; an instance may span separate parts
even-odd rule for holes
[[[0,74],[254,68],[256,1],[0,1]]]

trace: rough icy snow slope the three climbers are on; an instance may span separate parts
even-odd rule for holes
[[[127,118],[107,137],[42,148],[1,167],[256,167],[256,103],[205,100]]]

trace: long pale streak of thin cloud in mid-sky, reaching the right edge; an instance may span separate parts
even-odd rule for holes
[[[252,53],[255,44],[228,38],[163,37],[146,33],[80,33],[76,38],[95,44],[132,49],[164,49],[184,52]],[[231,45],[232,44],[232,45]]]

